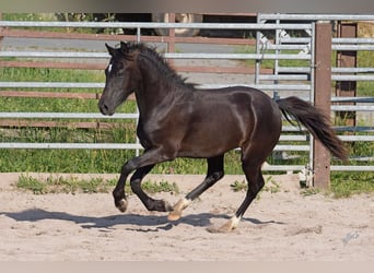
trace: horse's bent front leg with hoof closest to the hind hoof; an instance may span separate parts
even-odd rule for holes
[[[138,198],[144,204],[147,210],[157,212],[170,212],[173,210],[173,206],[171,204],[168,204],[165,200],[154,200],[150,198],[141,188],[142,179],[148,173],[151,171],[154,165],[149,165],[136,170],[136,173],[130,179],[131,190],[133,193],[138,195]]]

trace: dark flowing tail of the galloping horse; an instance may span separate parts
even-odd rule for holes
[[[294,96],[280,98],[277,104],[291,124],[293,122],[290,117],[295,119],[299,124],[305,126],[313,136],[319,140],[331,154],[341,161],[347,161],[348,151],[342,141],[335,134],[327,116],[320,110]]]

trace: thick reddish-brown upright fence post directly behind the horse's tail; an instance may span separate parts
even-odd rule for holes
[[[331,104],[331,23],[316,23],[315,32],[315,91],[314,105],[330,115]],[[314,187],[327,189],[330,186],[330,154],[318,142],[313,142]]]

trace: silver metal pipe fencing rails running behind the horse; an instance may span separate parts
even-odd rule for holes
[[[288,20],[282,23],[281,20]],[[305,23],[296,21],[303,20]],[[98,22],[16,22],[0,21],[1,27],[90,27],[90,28],[136,28],[137,40],[142,40],[141,29],[143,28],[204,28],[204,29],[253,29],[257,31],[256,52],[254,54],[201,54],[201,52],[165,52],[164,57],[171,60],[254,60],[256,62],[256,73],[253,84],[227,83],[201,84],[201,88],[217,88],[230,85],[247,85],[268,92],[272,96],[285,96],[295,94],[313,102],[314,96],[314,36],[315,21],[317,20],[374,20],[373,15],[295,15],[295,14],[258,14],[258,23],[255,24],[185,24],[185,23],[98,23]],[[271,21],[268,23],[267,21]],[[273,22],[276,21],[276,22]],[[294,21],[294,22],[293,22]],[[291,22],[291,23],[290,23]],[[276,33],[274,43],[267,38],[264,32]],[[305,37],[292,37],[288,31],[303,31]],[[115,37],[114,37],[115,39]],[[104,41],[103,41],[104,44]],[[374,39],[372,38],[332,38],[331,50],[374,50]],[[284,52],[285,51],[285,52]],[[292,52],[290,52],[292,51]],[[22,50],[0,50],[0,58],[26,58],[26,59],[82,59],[98,60],[107,59],[106,52],[73,52],[73,51],[22,51]],[[302,66],[292,67],[280,66],[281,61],[303,62]],[[265,61],[274,63],[273,74],[262,74],[260,67]],[[332,81],[374,81],[373,68],[331,68]],[[338,73],[344,73],[340,75]],[[365,75],[358,74],[365,73]],[[60,82],[0,82],[0,88],[103,88],[104,83],[60,83]],[[1,92],[1,91],[0,91]],[[273,94],[271,93],[273,92]],[[284,94],[284,95],[283,95]],[[338,98],[332,97],[332,102]],[[361,98],[361,103],[364,103]],[[371,98],[369,98],[371,99]],[[332,111],[373,111],[372,105],[342,106],[332,105]],[[106,117],[93,112],[0,112],[0,118],[12,119],[137,119],[138,114],[115,114]],[[292,130],[291,130],[292,131]],[[300,134],[284,134],[288,128],[283,128],[281,135],[282,142],[302,141],[306,144],[278,144],[274,151],[302,151],[311,153],[311,138]],[[295,132],[295,131],[294,131]],[[373,141],[373,135],[342,135],[341,139],[347,142]],[[139,151],[139,143],[0,143],[0,149],[130,149]],[[267,170],[300,170],[304,165],[267,165]],[[374,166],[331,166],[331,170],[374,170]]]

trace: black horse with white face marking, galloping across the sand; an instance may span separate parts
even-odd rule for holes
[[[218,230],[234,229],[264,187],[261,165],[279,140],[282,114],[304,124],[335,156],[347,158],[347,151],[327,117],[297,97],[274,100],[259,90],[245,86],[199,90],[186,83],[144,44],[106,47],[112,59],[105,70],[100,110],[113,115],[135,93],[140,112],[137,134],[144,147],[142,155],[122,166],[113,191],[115,205],[121,212],[127,209],[126,179],[136,170],[130,179],[131,189],[145,207],[170,212],[170,221],[178,219],[191,201],[223,177],[224,154],[241,147],[248,190],[235,215]],[[171,206],[164,200],[148,197],[141,181],[155,164],[176,157],[207,158],[208,174],[201,185]]]

